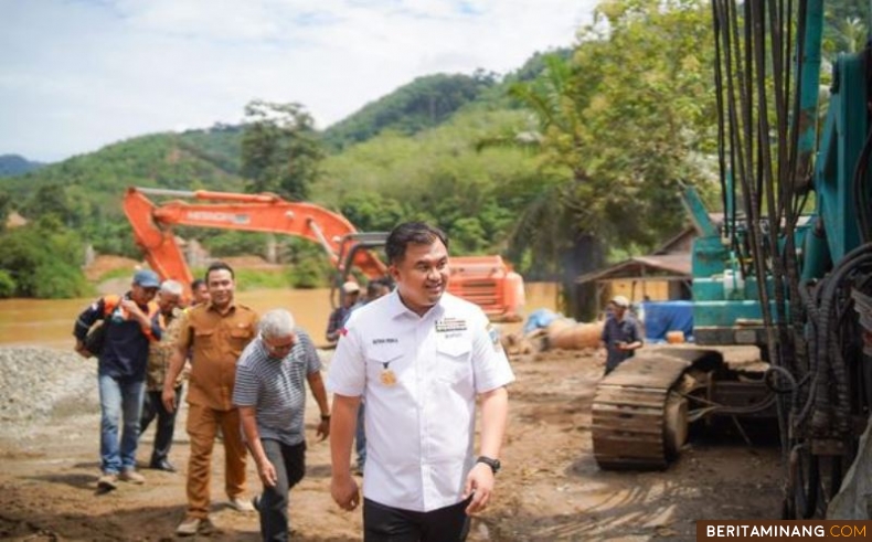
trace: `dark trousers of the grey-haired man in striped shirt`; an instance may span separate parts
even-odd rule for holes
[[[306,443],[295,446],[262,438],[260,445],[269,463],[276,468],[276,485],[264,487],[257,511],[260,514],[260,536],[264,541],[288,540],[288,493],[306,474]]]

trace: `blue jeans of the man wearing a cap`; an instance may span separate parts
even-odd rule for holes
[[[139,416],[142,412],[143,380],[116,379],[100,374],[100,469],[106,474],[136,468]],[[118,422],[124,424],[120,446]]]

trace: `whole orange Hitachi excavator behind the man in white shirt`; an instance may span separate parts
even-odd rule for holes
[[[174,198],[156,204],[148,196]],[[193,200],[193,201],[185,201]],[[146,261],[161,278],[191,284],[172,226],[187,225],[295,235],[323,247],[337,272],[336,285],[358,268],[369,279],[383,277],[387,267],[374,251],[384,246],[386,233],[360,233],[341,214],[312,203],[290,202],[275,194],[195,192],[129,188],[124,211]],[[524,305],[523,279],[500,256],[451,258],[448,291],[479,305],[495,321],[519,321]]]

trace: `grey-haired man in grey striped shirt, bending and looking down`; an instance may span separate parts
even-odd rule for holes
[[[260,333],[236,364],[233,404],[240,408],[245,443],[264,483],[255,499],[265,541],[288,540],[288,492],[306,470],[306,381],[321,411],[318,437],[330,433],[330,410],[321,362],[308,333],[284,309],[260,319]]]

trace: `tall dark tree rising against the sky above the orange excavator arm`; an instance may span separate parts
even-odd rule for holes
[[[251,191],[301,201],[319,177],[325,151],[302,105],[254,100],[245,106],[242,157]]]

